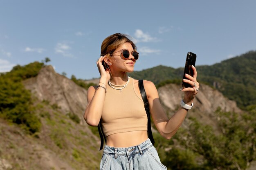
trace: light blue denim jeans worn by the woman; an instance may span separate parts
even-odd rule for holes
[[[167,170],[157,150],[147,139],[128,148],[104,147],[100,170]]]

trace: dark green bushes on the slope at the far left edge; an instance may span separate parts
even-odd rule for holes
[[[41,123],[31,106],[31,94],[22,83],[0,77],[0,117],[38,132]]]

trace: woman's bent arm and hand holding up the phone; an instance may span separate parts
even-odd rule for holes
[[[198,93],[199,83],[196,81],[197,72],[195,67],[194,75],[191,77],[190,75],[186,75],[187,80],[183,80],[186,83],[191,84],[193,88],[184,88],[184,103],[187,105],[191,105],[195,95]],[[188,112],[187,109],[180,107],[177,112],[168,119],[160,101],[159,95],[155,85],[152,82],[145,81],[144,82],[145,91],[148,96],[148,103],[150,106],[151,117],[153,118],[154,124],[157,127],[157,130],[160,134],[166,139],[171,139],[171,137],[177,132],[178,128],[181,126],[184,121],[186,114]]]

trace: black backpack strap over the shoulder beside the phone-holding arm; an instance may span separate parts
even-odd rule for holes
[[[150,139],[151,143],[154,145],[155,140],[153,138],[153,134],[152,134],[152,130],[151,130],[150,110],[149,110],[149,104],[148,104],[146,91],[145,91],[144,85],[143,85],[143,79],[139,80],[139,91],[140,91],[141,97],[143,99],[144,107],[145,107],[147,117],[148,117],[148,138]]]

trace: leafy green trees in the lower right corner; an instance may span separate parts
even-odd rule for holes
[[[256,112],[216,111],[220,132],[191,119],[188,130],[176,135],[181,144],[201,155],[203,166],[217,170],[247,170],[256,160]]]

